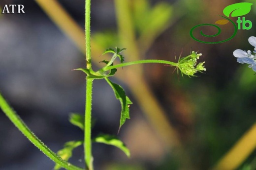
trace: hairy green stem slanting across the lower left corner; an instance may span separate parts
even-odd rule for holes
[[[56,164],[59,164],[66,170],[83,170],[79,167],[71,165],[64,161],[60,156],[55,154],[50,148],[48,148],[42,141],[40,141],[29,127],[22,121],[22,119],[15,113],[15,111],[8,105],[6,100],[0,94],[0,108],[5,115],[13,122],[13,124],[29,139],[30,142],[38,147],[46,156],[53,160]]]

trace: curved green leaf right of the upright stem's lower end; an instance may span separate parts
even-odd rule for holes
[[[130,157],[130,151],[125,144],[120,141],[115,135],[100,134],[94,140],[97,143],[103,143],[107,145],[113,145],[121,149],[125,154]]]

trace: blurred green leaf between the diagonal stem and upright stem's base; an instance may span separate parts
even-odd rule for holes
[[[57,154],[65,161],[67,161],[72,156],[72,151],[74,148],[82,145],[84,141],[69,141],[64,144],[64,148],[59,150]],[[62,166],[56,164],[54,170],[60,170]]]

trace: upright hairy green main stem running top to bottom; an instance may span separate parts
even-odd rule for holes
[[[91,64],[91,0],[85,0],[85,41],[86,41],[86,68],[92,70]],[[92,92],[93,79],[86,80],[86,102],[85,102],[85,134],[84,149],[85,163],[89,170],[93,170],[91,120],[92,120]]]

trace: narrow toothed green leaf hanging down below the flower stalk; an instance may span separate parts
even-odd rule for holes
[[[108,84],[112,87],[115,96],[120,100],[121,103],[121,117],[120,117],[120,126],[118,132],[120,131],[121,126],[125,123],[126,119],[130,119],[129,117],[129,105],[132,104],[129,97],[126,96],[125,90],[118,84],[111,82],[107,77],[105,77]]]

